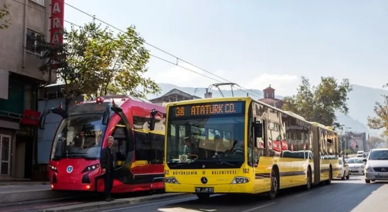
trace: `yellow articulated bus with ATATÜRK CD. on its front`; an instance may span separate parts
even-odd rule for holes
[[[263,193],[330,184],[338,175],[338,136],[251,97],[169,103],[164,174],[166,192]]]

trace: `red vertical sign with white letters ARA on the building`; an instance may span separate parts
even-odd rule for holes
[[[50,43],[52,45],[63,43],[64,9],[65,0],[51,1]],[[55,60],[51,62],[51,68],[57,69]]]

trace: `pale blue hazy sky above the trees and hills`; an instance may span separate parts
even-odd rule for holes
[[[135,25],[173,56],[146,44],[152,55],[213,78],[151,57],[146,76],[158,83],[208,87],[226,79],[250,89],[271,84],[284,96],[296,93],[301,76],[312,84],[321,76],[373,88],[388,82],[386,0],[65,2],[122,30]],[[65,20],[82,25],[92,18],[65,6]]]

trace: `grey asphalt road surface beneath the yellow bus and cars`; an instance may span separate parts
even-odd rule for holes
[[[0,211],[38,211],[60,205],[77,204],[93,199],[34,203],[1,207]],[[310,191],[287,189],[273,201],[263,196],[218,195],[201,202],[196,196],[182,196],[135,205],[122,205],[88,212],[386,212],[388,207],[388,183],[365,184],[363,176],[351,176],[350,180],[335,180],[329,186],[319,186]]]

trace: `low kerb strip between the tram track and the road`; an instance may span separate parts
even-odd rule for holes
[[[132,197],[125,199],[117,199],[112,202],[89,202],[82,203],[76,205],[67,205],[61,207],[47,208],[43,210],[39,210],[39,212],[68,212],[68,211],[84,211],[84,210],[93,210],[100,209],[105,207],[119,206],[125,204],[136,204],[140,202],[152,201],[152,200],[160,200],[160,199],[168,199],[177,196],[188,196],[192,195],[191,193],[166,193],[166,194],[154,194],[151,196],[141,196],[141,197]]]

